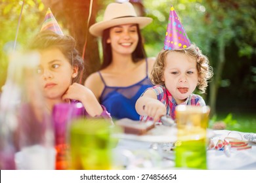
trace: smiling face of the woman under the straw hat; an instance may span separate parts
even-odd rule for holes
[[[137,47],[139,35],[136,24],[117,25],[110,29],[107,43],[111,44],[112,52],[132,54]]]

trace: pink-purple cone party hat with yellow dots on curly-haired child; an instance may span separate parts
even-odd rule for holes
[[[186,31],[173,6],[171,6],[163,50],[179,50],[188,48],[190,44]]]

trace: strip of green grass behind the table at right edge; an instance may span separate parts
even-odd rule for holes
[[[217,116],[211,118],[209,127],[212,127],[215,122],[219,121],[223,121],[228,130],[256,133],[256,114],[253,113],[218,112]]]

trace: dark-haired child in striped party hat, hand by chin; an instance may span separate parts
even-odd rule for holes
[[[41,31],[29,48],[41,55],[37,73],[49,112],[58,103],[82,103],[85,116],[101,116],[112,122],[93,92],[77,83],[83,71],[83,59],[75,48],[75,40],[62,33],[51,10],[47,11]]]

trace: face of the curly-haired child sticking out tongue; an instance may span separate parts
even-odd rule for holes
[[[169,52],[162,80],[177,104],[184,102],[198,85],[196,59],[179,52]]]

